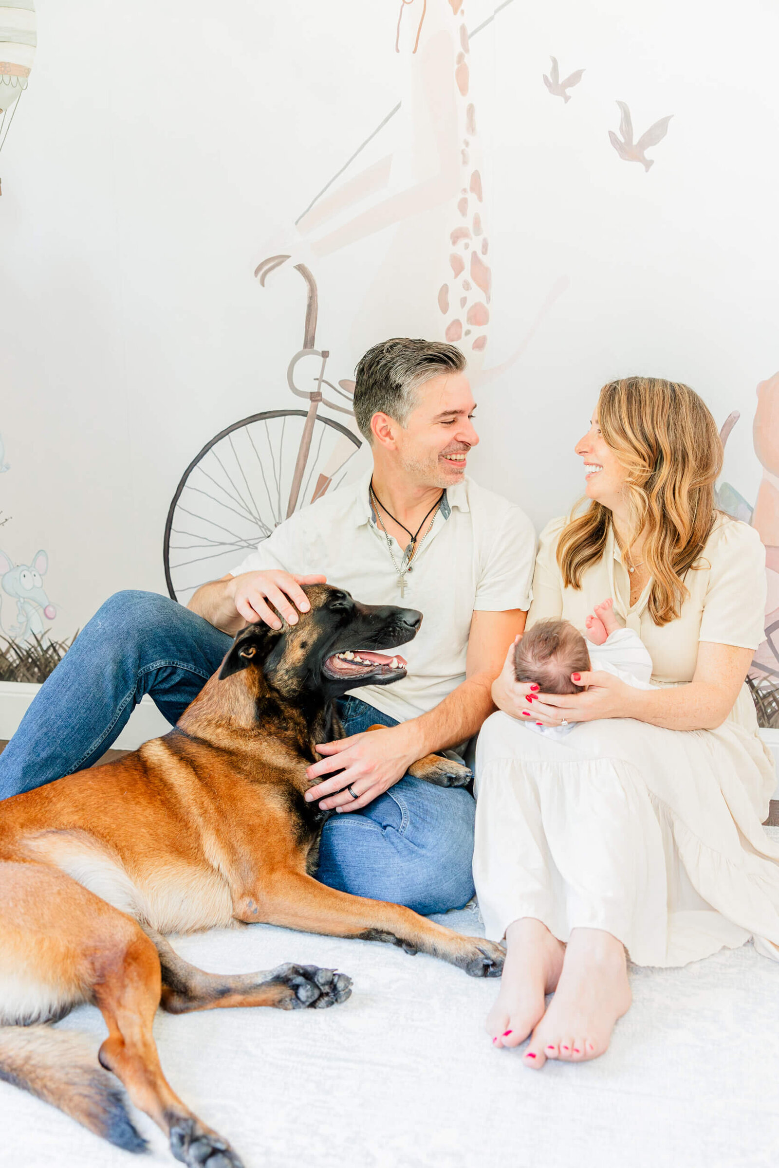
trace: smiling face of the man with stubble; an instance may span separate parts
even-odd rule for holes
[[[419,385],[415,398],[405,426],[395,427],[403,470],[420,486],[460,482],[468,451],[479,442],[468,378],[464,373],[439,374]]]

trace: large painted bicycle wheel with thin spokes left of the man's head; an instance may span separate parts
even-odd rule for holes
[[[287,517],[334,491],[362,443],[331,418],[313,420],[299,489],[293,478],[306,410],[270,410],[236,422],[203,446],[185,471],[165,523],[165,579],[187,604],[208,580],[231,571]]]

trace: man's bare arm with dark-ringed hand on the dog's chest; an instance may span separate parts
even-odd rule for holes
[[[308,802],[320,799],[320,807],[360,811],[383,794],[418,758],[445,750],[471,738],[495,709],[492,683],[506,656],[506,646],[523,632],[527,612],[474,612],[468,638],[466,680],[427,714],[397,726],[352,735],[338,742],[318,744],[325,756],[307,770],[309,781],[322,779],[306,792]],[[334,779],[327,776],[342,770]],[[354,799],[350,785],[360,795]]]

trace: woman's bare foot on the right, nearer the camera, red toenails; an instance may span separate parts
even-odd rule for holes
[[[557,992],[533,1031],[524,1062],[540,1068],[548,1058],[597,1058],[631,1001],[621,941],[600,929],[572,930]]]

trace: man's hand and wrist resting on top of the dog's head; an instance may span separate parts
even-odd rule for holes
[[[325,583],[325,576],[293,576],[276,568],[228,575],[199,588],[187,607],[235,637],[259,620],[280,628],[278,613],[288,625],[297,625],[298,612],[308,612],[311,607],[301,585]]]

